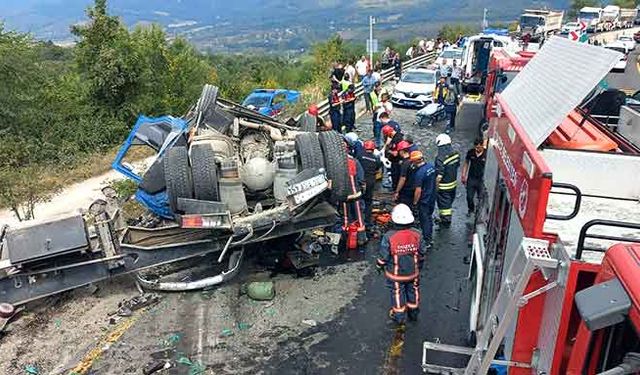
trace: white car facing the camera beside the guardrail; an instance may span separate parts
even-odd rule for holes
[[[436,70],[408,69],[396,84],[391,95],[391,103],[403,107],[422,108],[433,103],[439,73]]]

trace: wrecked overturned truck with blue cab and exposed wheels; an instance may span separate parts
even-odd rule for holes
[[[238,272],[245,245],[334,224],[333,203],[349,194],[342,137],[313,132],[306,115],[281,123],[217,91],[205,86],[183,117],[141,116],[134,125],[113,162],[137,183],[136,200],[149,211],[134,225],[125,224],[115,192],[105,188],[86,212],[2,229],[0,314],[92,282],[219,253],[217,262],[228,267],[203,280],[169,283],[138,274],[154,289],[215,285]],[[143,172],[126,162],[137,147],[154,154]]]

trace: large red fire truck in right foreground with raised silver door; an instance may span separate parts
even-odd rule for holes
[[[579,108],[618,57],[552,38],[496,95],[469,272],[473,347],[425,342],[425,372],[640,371],[640,127]],[[589,139],[563,148],[550,137],[571,116]],[[470,359],[441,366],[431,351]]]

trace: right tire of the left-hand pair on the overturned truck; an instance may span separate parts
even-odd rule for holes
[[[191,174],[193,176],[193,194],[203,201],[218,201],[218,167],[213,149],[207,145],[191,147]]]

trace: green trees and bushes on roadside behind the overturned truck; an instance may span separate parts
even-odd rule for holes
[[[205,55],[156,25],[129,30],[108,14],[107,0],[86,15],[71,29],[72,48],[0,23],[0,207],[20,220],[63,186],[109,170],[139,114],[181,115],[205,83],[235,101],[258,87],[298,89],[303,100],[290,111],[301,112],[327,94],[333,61],[365,54],[335,36],[295,58]],[[442,36],[466,31],[452,26]],[[409,44],[383,45],[404,56]]]

